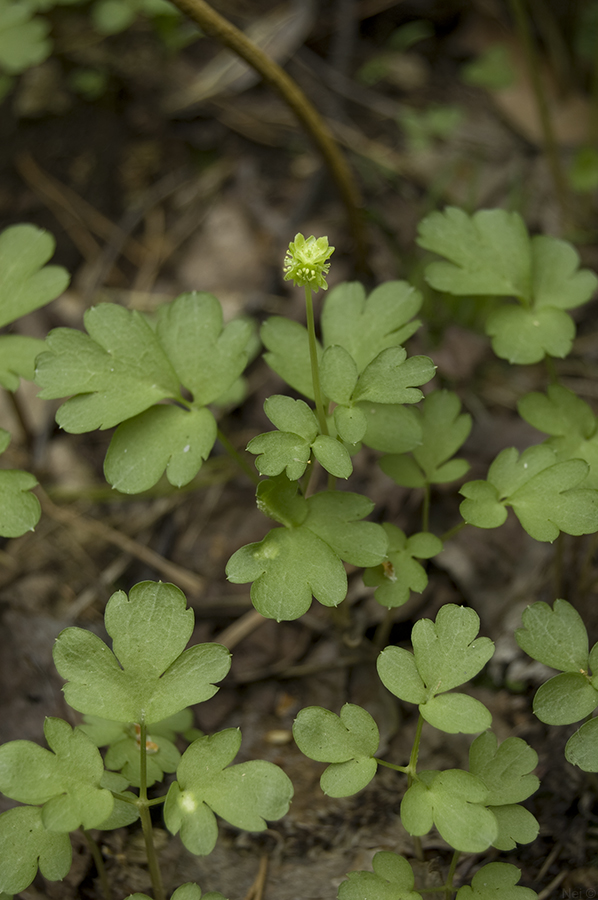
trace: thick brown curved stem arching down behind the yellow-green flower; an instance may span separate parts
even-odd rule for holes
[[[367,247],[361,215],[361,197],[353,173],[339,150],[325,120],[307,99],[299,85],[278,63],[250,41],[242,31],[219,15],[205,0],[172,0],[174,6],[193,19],[207,35],[215,38],[255,69],[276,90],[295,113],[322,154],[347,210],[355,242],[357,268],[367,271]]]

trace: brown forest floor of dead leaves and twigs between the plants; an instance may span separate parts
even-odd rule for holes
[[[295,4],[295,19],[278,35],[272,0],[214,5],[243,27],[264,17],[276,35],[273,52],[344,146],[367,213],[370,285],[407,278],[425,291],[425,325],[409,352],[431,356],[438,383],[456,391],[472,414],[464,449],[468,477],[484,477],[504,447],[538,441],[517,417],[516,403],[545,387],[546,371],[497,360],[473,303],[449,304],[425,289],[418,221],[446,204],[517,209],[532,232],[575,238],[584,265],[598,266],[593,199],[577,198],[574,233],[563,224],[506,10],[481,0],[304,2]],[[553,15],[553,4],[545,6]],[[51,231],[53,261],[69,269],[72,283],[19,329],[43,337],[53,327],[82,327],[92,303],[151,311],[188,290],[216,294],[227,318],[301,319],[301,296],[283,282],[281,267],[297,231],[328,235],[337,248],[331,285],[355,277],[352,237],[329,173],[271,90],[224,84],[225,66],[219,75],[214,64],[206,69],[218,55],[207,39],[174,54],[144,20],[102,40],[93,38],[84,7],[58,9],[53,22],[56,54],[22,76],[1,108],[0,225],[31,222]],[[413,22],[420,23],[416,40],[405,30]],[[488,91],[466,83],[464,66],[497,43],[510,53],[512,85]],[[73,72],[89,69],[105,77],[96,98],[73,87]],[[588,102],[583,78],[573,77],[551,99],[566,161],[585,140]],[[557,362],[561,382],[594,406],[596,309],[590,303],[576,316],[574,351]],[[268,427],[263,400],[279,390],[280,380],[256,361],[247,402],[220,423],[241,451]],[[269,525],[256,509],[253,484],[222,448],[217,445],[193,490],[161,484],[141,497],[119,495],[102,474],[110,435],[59,432],[57,404],[42,403],[36,391],[23,384],[17,406],[8,395],[0,400],[2,422],[13,434],[8,461],[34,471],[43,488],[35,532],[0,549],[0,741],[41,741],[46,715],[75,721],[52,664],[61,629],[76,624],[104,635],[103,610],[114,590],[144,579],[172,581],[194,609],[194,642],[221,640],[233,650],[230,675],[195,711],[197,726],[205,732],[240,726],[243,756],[281,765],[295,800],[262,834],[221,825],[217,848],[206,858],[160,832],[167,885],[193,880],[230,900],[332,900],[347,871],[368,868],[377,850],[413,858],[412,839],[398,822],[403,784],[395,774],[385,769],[356,797],[330,799],[318,784],[322,766],[302,757],[291,737],[299,709],[338,712],[349,701],[380,724],[387,758],[404,764],[408,757],[416,720],[375,676],[371,640],[384,612],[359,573],[350,572],[347,601],[334,615],[314,603],[296,622],[257,620],[249,586],[228,583],[224,569],[236,549],[260,540]],[[408,534],[419,531],[421,496],[389,490],[375,460],[373,451],[359,457],[354,489],[376,502],[377,516]],[[431,529],[441,534],[458,521],[455,486],[435,491]],[[463,855],[457,884],[500,857],[518,865],[521,884],[546,900],[596,894],[595,776],[564,762],[573,729],[549,728],[533,716],[533,694],[546,670],[513,638],[527,604],[556,596],[574,603],[590,638],[598,637],[595,546],[591,537],[565,536],[558,547],[537,543],[512,518],[496,530],[466,528],[430,564],[425,592],[396,611],[390,639],[405,644],[413,622],[433,618],[442,604],[477,611],[481,633],[497,652],[472,692],[490,708],[499,739],[522,737],[540,759],[542,786],[526,804],[540,822],[538,839],[512,853]],[[424,737],[422,765],[466,764],[469,737],[432,728]],[[138,829],[100,840],[116,896],[149,890]],[[451,852],[434,833],[422,846],[425,859],[415,865],[432,884]],[[83,840],[64,882],[38,877],[22,896],[101,896]]]

